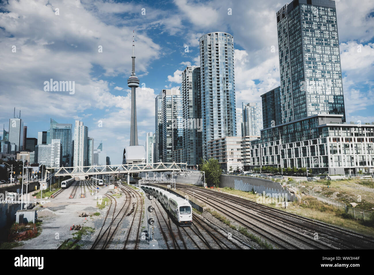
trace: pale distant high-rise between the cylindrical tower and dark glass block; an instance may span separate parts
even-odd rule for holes
[[[242,137],[259,136],[262,127],[262,109],[255,102],[242,103]]]

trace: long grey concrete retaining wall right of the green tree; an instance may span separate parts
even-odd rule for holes
[[[295,199],[294,194],[290,193],[287,187],[283,188],[281,183],[264,178],[221,175],[220,180],[220,187],[231,187],[246,192],[251,192],[253,189],[260,194],[263,194],[263,192],[265,192],[265,194],[271,194],[272,197],[274,197],[275,194],[281,194],[282,198],[283,196],[287,196],[288,201],[294,201]]]

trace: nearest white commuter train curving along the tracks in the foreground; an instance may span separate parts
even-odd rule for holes
[[[153,186],[145,186],[143,190],[153,195],[169,211],[171,216],[178,221],[180,226],[191,226],[192,206],[187,200]]]

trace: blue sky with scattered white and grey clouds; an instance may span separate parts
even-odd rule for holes
[[[335,2],[347,121],[372,122],[374,1]],[[179,87],[186,65],[199,65],[199,37],[205,33],[224,31],[234,37],[237,107],[243,101],[260,103],[261,94],[278,86],[275,14],[286,3],[1,1],[0,122],[9,128],[13,108],[16,113],[21,109],[27,136],[37,137],[49,129],[50,117],[73,125],[81,120],[95,147],[102,140],[112,164],[120,164],[129,144],[133,30],[143,87],[137,89],[138,137],[144,145],[146,132],[154,132],[155,95]],[[75,93],[44,91],[50,79],[75,81]]]

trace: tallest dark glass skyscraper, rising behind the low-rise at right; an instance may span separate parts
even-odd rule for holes
[[[294,0],[277,13],[283,123],[345,110],[335,1]]]

